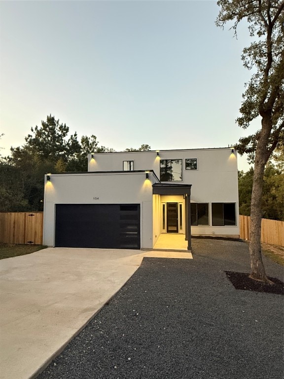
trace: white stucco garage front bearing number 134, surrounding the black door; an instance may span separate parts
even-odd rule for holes
[[[154,181],[153,181],[154,182]],[[152,175],[54,174],[45,183],[43,244],[54,246],[55,204],[140,204],[141,248],[153,246]]]

